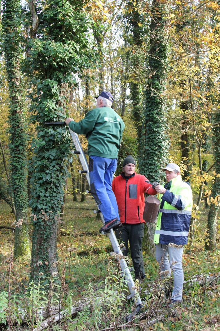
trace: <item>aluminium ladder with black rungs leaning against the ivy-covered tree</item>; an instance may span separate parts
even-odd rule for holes
[[[66,125],[65,122],[45,122],[45,124],[47,124],[47,125]],[[89,184],[89,187],[90,187],[89,166],[88,166],[88,162],[87,162],[87,159],[85,157],[84,151],[82,149],[82,146],[80,144],[78,135],[77,135],[77,133],[75,133],[74,131],[72,131],[70,128],[69,128],[69,132],[70,132],[71,138],[73,140],[73,143],[74,143],[74,146],[75,146],[75,149],[76,149],[76,151],[73,151],[73,154],[78,154],[79,160],[80,160],[81,165],[83,167],[83,170],[79,170],[79,173],[85,173],[86,178],[87,178],[87,181],[88,181],[88,184]],[[98,211],[94,211],[94,213],[100,213],[100,211],[99,210]],[[102,219],[103,224],[105,224],[105,221],[104,221],[104,218],[103,218],[102,213],[100,213],[100,216],[101,216],[101,219]],[[115,236],[115,233],[114,233],[113,229],[110,229],[110,231],[108,231],[108,232],[102,232],[102,234],[106,234],[106,233],[108,234],[108,237],[110,239],[110,242],[111,242],[112,247],[113,247],[113,250],[114,250],[114,253],[123,256],[122,250],[121,250],[121,248],[119,246],[119,243],[117,241],[117,238]],[[124,277],[125,277],[125,280],[127,281],[127,285],[128,285],[129,291],[130,291],[130,295],[127,296],[127,299],[131,299],[132,298],[133,301],[136,304],[136,310],[135,310],[135,312],[133,314],[130,314],[130,316],[127,318],[128,320],[130,320],[141,309],[141,307],[142,307],[142,301],[140,299],[139,294],[137,293],[137,291],[135,289],[134,281],[133,281],[133,278],[132,278],[132,276],[130,274],[130,269],[128,268],[128,265],[127,265],[125,259],[121,259],[121,258],[117,258],[117,259],[118,259],[118,261],[120,263],[122,272],[124,273]]]

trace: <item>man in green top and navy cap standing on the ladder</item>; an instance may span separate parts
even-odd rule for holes
[[[101,233],[122,226],[112,180],[125,124],[111,108],[114,99],[110,92],[103,91],[95,99],[96,108],[85,118],[79,122],[67,118],[65,123],[77,134],[85,134],[88,140],[91,193],[105,221],[99,229]]]

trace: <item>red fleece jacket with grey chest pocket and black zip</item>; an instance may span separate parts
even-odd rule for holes
[[[145,204],[144,192],[147,190],[147,194],[157,194],[149,180],[136,172],[133,177],[126,179],[122,172],[113,179],[112,190],[116,196],[121,222],[145,223],[142,217]]]

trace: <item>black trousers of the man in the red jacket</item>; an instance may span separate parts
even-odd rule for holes
[[[127,224],[115,230],[119,244],[125,245],[124,256],[128,255],[128,241],[130,244],[131,259],[134,267],[135,279],[145,278],[144,261],[142,254],[142,240],[144,237],[144,223]]]

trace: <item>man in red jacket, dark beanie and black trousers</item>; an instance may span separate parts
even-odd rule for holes
[[[125,245],[124,256],[128,255],[128,240],[130,244],[131,259],[134,266],[135,279],[145,278],[142,240],[144,237],[143,211],[145,205],[144,193],[156,195],[149,180],[135,170],[136,161],[128,155],[123,163],[123,172],[115,177],[112,190],[116,196],[120,220],[123,226],[115,230],[119,243]],[[158,184],[158,183],[157,183]]]

